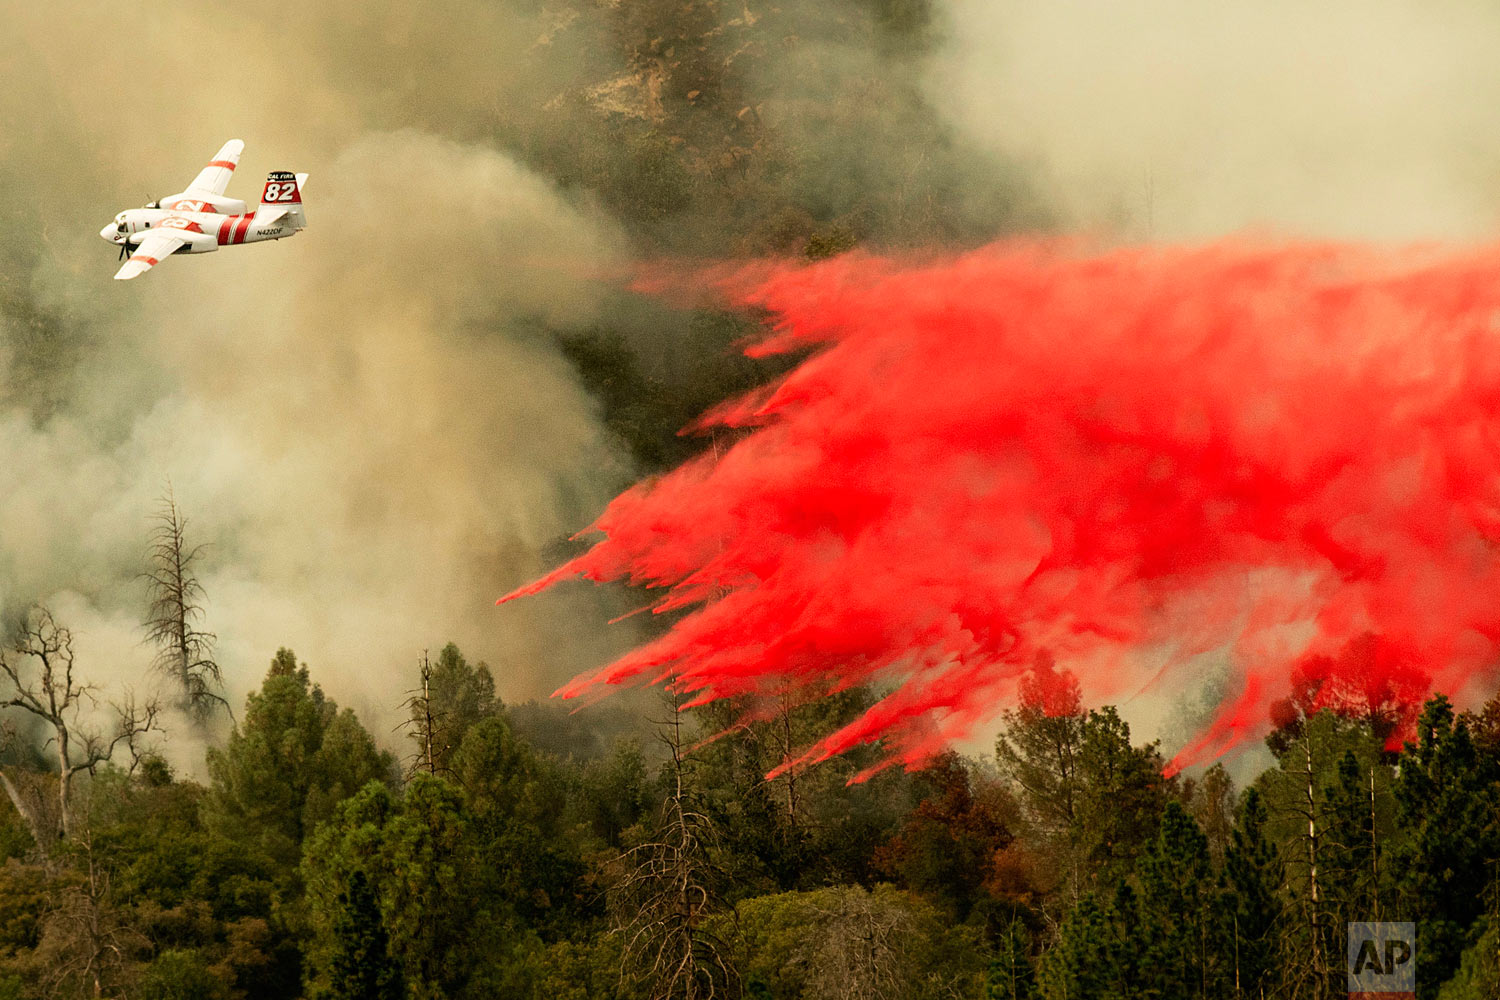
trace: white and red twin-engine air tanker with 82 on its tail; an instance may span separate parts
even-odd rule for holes
[[[120,247],[122,259],[130,255],[116,271],[116,280],[144,274],[172,253],[208,253],[220,246],[282,240],[308,226],[302,214],[306,174],[272,171],[254,213],[238,198],[224,196],[243,151],[244,142],[230,139],[186,190],[144,208],[128,208],[99,231]]]

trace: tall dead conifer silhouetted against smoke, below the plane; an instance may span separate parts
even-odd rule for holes
[[[156,669],[180,688],[178,706],[200,723],[216,708],[230,711],[219,691],[224,678],[213,660],[214,634],[198,628],[202,621],[202,586],[194,562],[202,546],[188,547],[188,519],[177,508],[171,484],[160,498],[153,520],[150,570],[152,609],[146,619],[146,639],[158,648]]]

